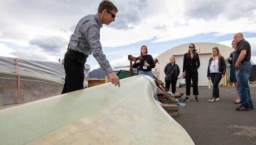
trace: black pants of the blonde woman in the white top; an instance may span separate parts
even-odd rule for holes
[[[221,81],[221,75],[222,73],[210,73],[213,98],[219,98],[219,82]]]

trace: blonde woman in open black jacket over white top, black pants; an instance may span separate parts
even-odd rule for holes
[[[219,82],[226,73],[225,58],[221,56],[218,47],[212,48],[212,57],[209,60],[207,77],[212,82],[212,98],[209,102],[219,101]]]

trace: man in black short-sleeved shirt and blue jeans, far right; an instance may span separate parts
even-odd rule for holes
[[[236,70],[237,90],[241,98],[241,106],[237,107],[237,111],[253,110],[253,101],[251,101],[250,87],[248,79],[251,74],[251,46],[244,40],[241,33],[234,35],[234,40],[237,43],[237,49],[233,59],[233,65]]]

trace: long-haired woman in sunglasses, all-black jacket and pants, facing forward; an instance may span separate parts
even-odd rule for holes
[[[199,101],[197,98],[197,95],[199,95],[198,92],[198,72],[197,69],[199,69],[200,66],[200,60],[199,55],[196,53],[196,46],[194,46],[193,43],[189,44],[189,51],[188,53],[184,54],[183,58],[183,70],[182,70],[182,76],[186,76],[186,98],[184,99],[184,102],[189,101],[189,95],[190,95],[190,85],[191,85],[191,79],[193,83],[193,95],[194,101]]]

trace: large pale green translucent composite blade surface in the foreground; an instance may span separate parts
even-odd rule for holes
[[[1,110],[0,144],[194,144],[154,90],[138,75]]]

